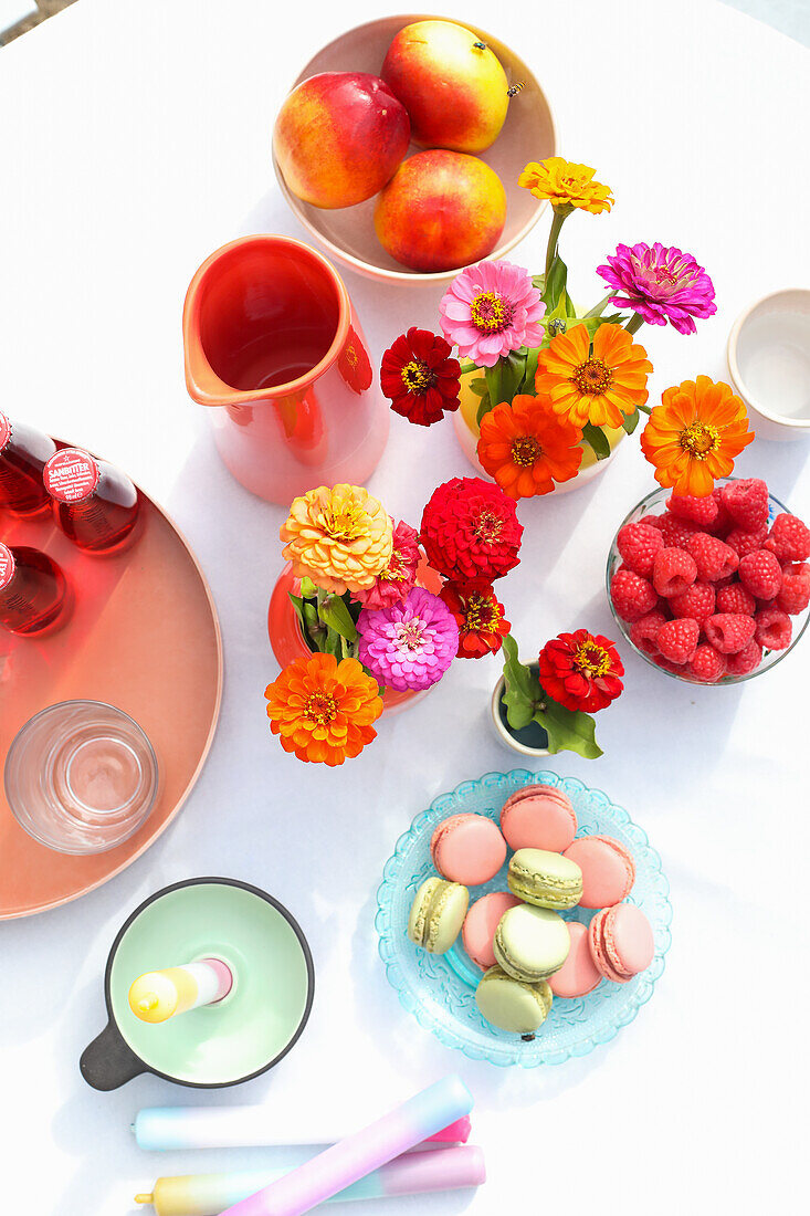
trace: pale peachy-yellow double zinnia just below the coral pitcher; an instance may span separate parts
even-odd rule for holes
[[[309,490],[293,501],[280,535],[293,574],[336,595],[373,586],[393,550],[388,512],[359,485]]]

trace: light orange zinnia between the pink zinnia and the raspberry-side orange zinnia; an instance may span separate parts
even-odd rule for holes
[[[578,427],[620,427],[623,413],[634,413],[649,396],[652,364],[620,325],[604,322],[594,334],[584,325],[552,338],[540,351],[534,384],[547,393],[557,413]]]

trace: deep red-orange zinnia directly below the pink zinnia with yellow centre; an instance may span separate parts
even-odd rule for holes
[[[549,399],[518,394],[480,423],[478,460],[512,499],[549,494],[579,472],[583,432],[555,413]]]

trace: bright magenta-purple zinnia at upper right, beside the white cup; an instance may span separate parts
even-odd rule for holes
[[[652,246],[617,246],[607,266],[597,272],[612,287],[611,299],[619,308],[631,308],[648,325],[666,325],[679,333],[694,333],[693,317],[711,316],[718,311],[714,285],[703,266],[691,253],[674,246],[664,248],[658,241]]]

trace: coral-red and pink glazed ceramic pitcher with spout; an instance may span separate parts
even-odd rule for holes
[[[220,456],[270,502],[316,485],[362,485],[389,413],[345,286],[309,246],[248,236],[191,281],[182,314],[186,385],[210,406]]]

